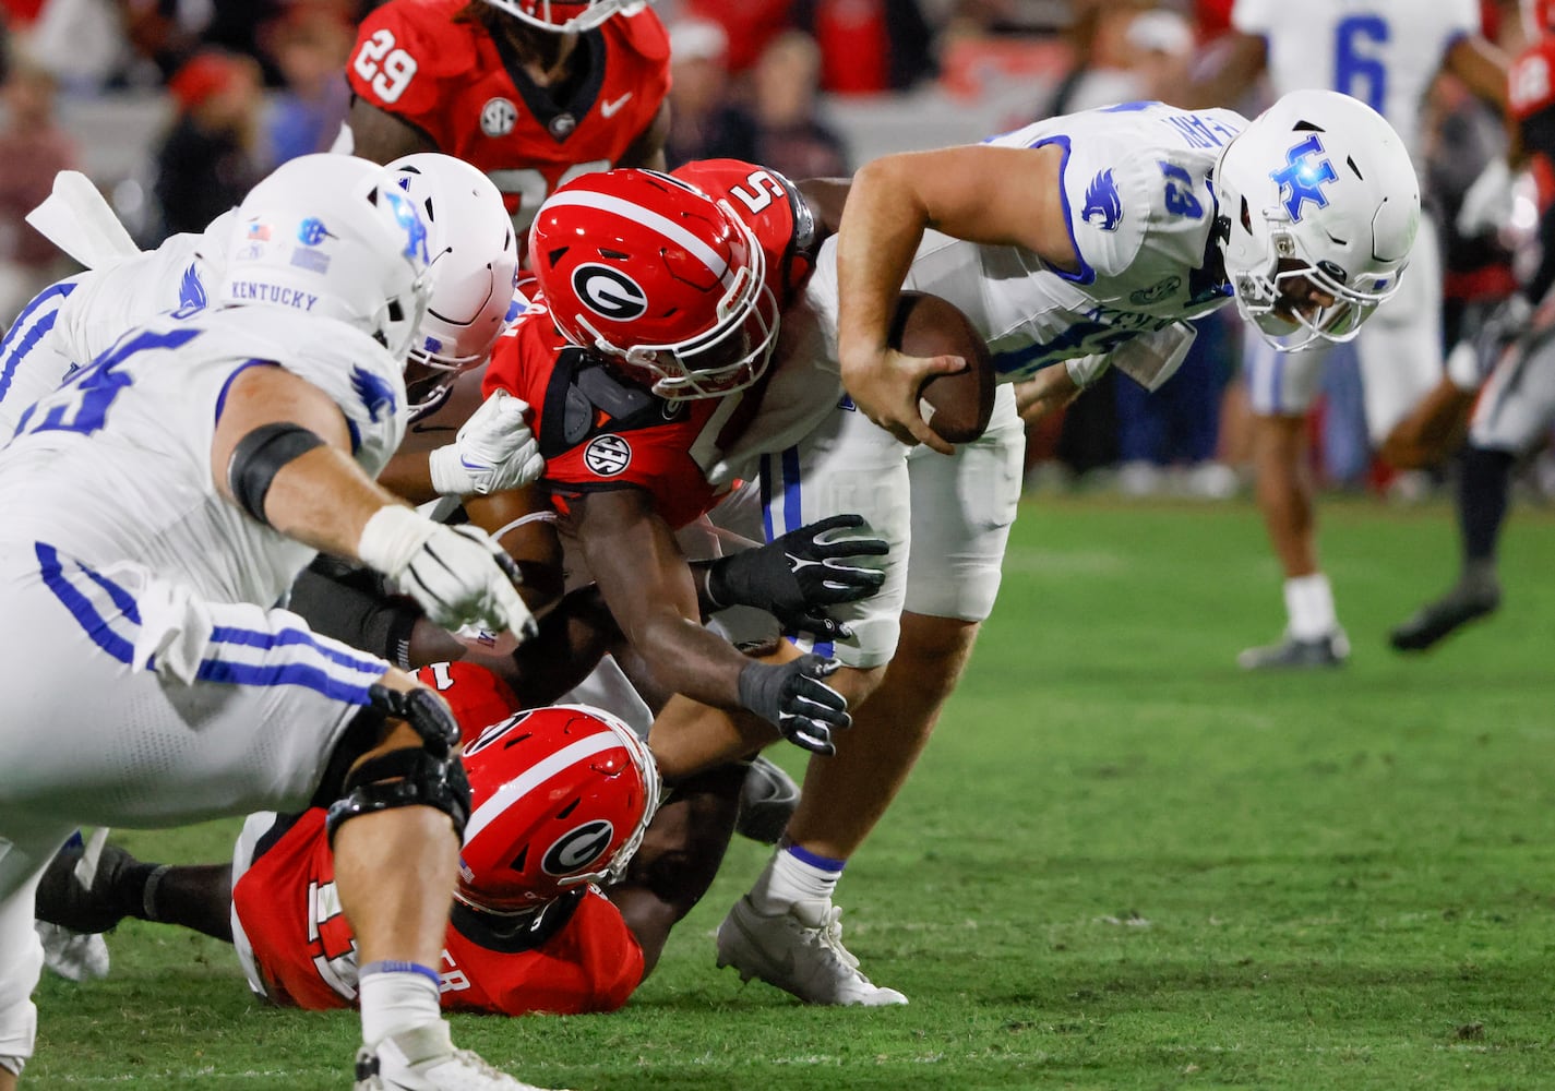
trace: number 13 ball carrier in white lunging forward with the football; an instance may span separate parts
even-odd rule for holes
[[[586,202],[572,208],[589,214]],[[564,235],[566,211],[541,219]],[[832,611],[851,626],[830,650],[843,667],[829,684],[855,710],[852,727],[832,734],[835,754],[810,760],[784,842],[718,928],[720,965],[815,1004],[907,1001],[858,970],[832,894],[992,609],[1020,496],[1015,384],[1059,398],[1107,361],[1169,370],[1191,339],[1183,319],[1233,292],[1274,333],[1345,337],[1398,288],[1418,219],[1398,135],[1325,92],[1288,96],[1252,124],[1230,110],[1134,103],[858,171],[840,235],[782,314],[756,418],[729,449],[698,449],[714,483],[760,462],[768,536],[857,511],[889,544],[882,589]],[[731,267],[728,278],[745,274]],[[538,275],[547,306],[583,312],[566,277]],[[889,348],[902,288],[955,303],[994,350],[992,420],[953,451],[922,420],[917,392],[964,361]],[[633,347],[633,320],[610,317],[611,351],[662,359],[650,347],[662,337]],[[851,401],[840,404],[838,379]],[[717,735],[708,713],[680,712],[655,724],[656,748],[661,729]]]

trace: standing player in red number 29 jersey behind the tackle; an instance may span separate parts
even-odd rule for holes
[[[341,149],[457,155],[522,227],[569,177],[664,166],[669,56],[641,2],[389,0],[358,31]]]

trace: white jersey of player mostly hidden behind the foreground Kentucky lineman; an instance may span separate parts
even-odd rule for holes
[[[174,235],[149,253],[67,277],[39,292],[0,340],[0,443],[22,412],[96,359],[131,326],[159,314],[202,309],[216,291],[232,219],[201,235]]]

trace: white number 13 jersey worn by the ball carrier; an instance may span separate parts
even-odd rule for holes
[[[903,286],[955,303],[987,339],[1000,382],[1140,336],[1179,333],[1183,319],[1230,300],[1208,176],[1246,124],[1232,110],[1126,103],[994,137],[987,143],[1064,151],[1064,204],[1081,270],[1053,269],[1022,247],[927,232]],[[830,256],[823,252],[816,283],[835,280]]]

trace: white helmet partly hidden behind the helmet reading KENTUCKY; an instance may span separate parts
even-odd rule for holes
[[[417,152],[389,169],[426,224],[431,256],[432,291],[411,345],[420,368],[406,376],[415,412],[435,403],[459,371],[484,364],[512,320],[518,236],[502,193],[465,160]]]

